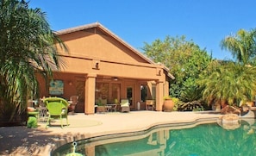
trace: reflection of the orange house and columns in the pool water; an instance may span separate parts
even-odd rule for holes
[[[165,155],[166,141],[169,130],[159,130],[140,136],[130,136],[122,139],[105,140],[103,145],[85,146],[86,155]],[[97,143],[96,143],[97,144]],[[89,150],[94,147],[94,150]]]

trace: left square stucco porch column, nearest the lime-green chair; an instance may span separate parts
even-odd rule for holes
[[[95,83],[97,74],[88,74],[85,80],[85,98],[84,113],[85,115],[94,114],[95,105]]]

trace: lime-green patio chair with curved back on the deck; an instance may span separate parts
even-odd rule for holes
[[[63,128],[62,119],[66,118],[66,125],[68,126],[68,103],[65,99],[60,97],[47,97],[44,103],[48,109],[47,127],[51,124],[52,119],[59,119],[61,128]]]

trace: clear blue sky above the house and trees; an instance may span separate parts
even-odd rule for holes
[[[185,35],[216,59],[232,59],[220,41],[240,28],[256,28],[255,0],[30,0],[53,30],[100,22],[142,52],[156,39]]]

